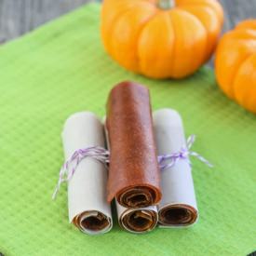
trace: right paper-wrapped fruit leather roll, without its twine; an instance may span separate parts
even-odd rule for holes
[[[154,114],[158,155],[179,153],[186,146],[182,118],[174,110]],[[162,200],[158,205],[159,225],[188,226],[196,222],[198,211],[189,159],[179,159],[171,168],[161,170]]]

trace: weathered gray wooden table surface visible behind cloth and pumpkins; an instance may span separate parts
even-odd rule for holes
[[[225,10],[224,31],[234,27],[239,20],[256,18],[256,0],[220,1]],[[89,0],[0,0],[0,44],[88,2]]]

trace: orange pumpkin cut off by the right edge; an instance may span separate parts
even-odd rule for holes
[[[242,21],[223,35],[215,70],[223,92],[256,113],[256,20]]]

